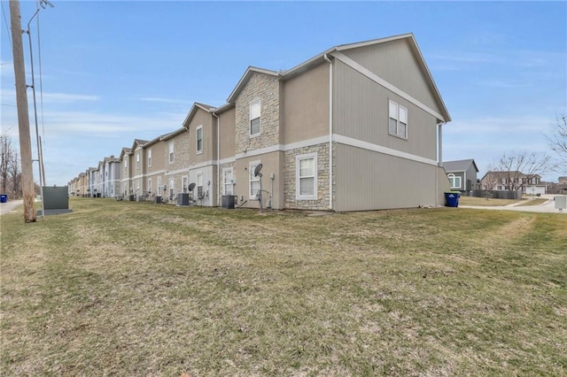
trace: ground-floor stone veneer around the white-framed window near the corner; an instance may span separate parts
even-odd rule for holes
[[[317,200],[296,199],[295,157],[317,153]],[[283,208],[297,210],[329,210],[329,143],[287,150],[284,152]]]

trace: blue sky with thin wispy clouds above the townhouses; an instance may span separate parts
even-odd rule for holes
[[[409,32],[453,118],[445,160],[474,158],[484,174],[504,152],[547,151],[544,135],[567,112],[565,2],[51,3],[39,13],[49,185],[66,185],[135,138],[181,127],[195,101],[224,104],[248,65],[289,69],[338,44]],[[18,145],[8,1],[2,6],[2,132]],[[20,8],[25,26],[35,2]]]

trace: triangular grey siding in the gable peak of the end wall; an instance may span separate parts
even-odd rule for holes
[[[442,113],[416,55],[405,39],[346,50],[345,55],[436,112]]]

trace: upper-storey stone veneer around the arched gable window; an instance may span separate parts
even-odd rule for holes
[[[250,104],[260,99],[260,135],[250,136]],[[235,154],[279,143],[279,81],[253,73],[237,97]]]

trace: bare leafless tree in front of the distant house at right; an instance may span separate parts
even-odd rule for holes
[[[504,153],[498,162],[488,167],[499,184],[510,191],[517,191],[525,184],[536,183],[541,175],[553,168],[551,157],[542,152]]]

